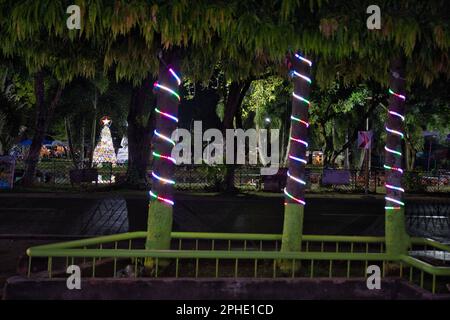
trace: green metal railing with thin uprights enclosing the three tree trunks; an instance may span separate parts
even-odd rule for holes
[[[145,250],[145,237],[146,232],[131,232],[29,248],[28,276],[33,258],[40,257],[47,259],[48,277],[66,276],[69,263],[83,264],[92,277],[116,277],[128,265],[138,277],[143,261],[151,258],[153,277],[350,278],[367,276],[370,263],[380,266],[383,277],[407,278],[432,293],[441,291],[444,282],[439,279],[450,278],[445,258],[439,266],[417,257],[390,256],[384,237],[304,235],[300,252],[280,252],[278,234],[173,232],[171,250]],[[411,250],[437,257],[449,254],[450,246],[412,238]]]

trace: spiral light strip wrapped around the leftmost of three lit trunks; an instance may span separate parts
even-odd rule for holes
[[[172,67],[168,67],[164,63],[164,61],[161,60],[161,63],[163,63],[166,66],[167,71],[170,73],[171,77],[176,81],[176,83],[179,86],[181,84],[181,79],[177,75],[177,73],[173,70]],[[175,85],[173,82],[171,82],[171,83],[173,85]],[[153,87],[156,92],[169,94],[171,97],[175,97],[178,101],[181,100],[180,95],[174,89],[170,88],[169,85],[163,85],[163,84],[160,84],[159,82],[155,82],[153,84]],[[158,109],[157,107],[155,107],[155,109],[154,109],[156,114],[158,114],[160,116],[158,121],[164,120],[164,121],[170,121],[172,123],[173,122],[178,123],[178,118],[176,117],[176,114],[172,114],[174,111],[172,111],[172,113],[171,113],[171,112],[168,112],[167,110],[161,110],[161,109],[162,109],[161,106],[160,106],[160,109]],[[163,122],[161,125],[162,125],[162,128],[167,129],[167,126]],[[155,129],[153,132],[154,132],[155,137],[161,139],[164,143],[170,144],[171,146],[176,145],[175,141],[166,135],[167,134],[166,132],[164,132],[166,134],[163,134],[162,132],[160,132],[157,129]],[[158,144],[156,144],[156,146],[158,146]],[[165,149],[164,152],[161,152],[158,150],[153,151],[153,157],[154,157],[155,161],[167,161],[170,163],[170,165],[175,165],[176,160],[169,153],[170,152],[169,149],[171,149],[171,148],[164,147],[163,149]],[[167,189],[168,186],[172,186],[175,184],[175,180],[172,180],[167,176],[164,177],[163,174],[161,174],[163,172],[163,170],[161,170],[161,169],[165,168],[166,166],[167,166],[166,164],[163,165],[162,163],[156,163],[156,165],[154,164],[153,167],[155,169],[152,170],[152,173],[151,173],[151,175],[153,177],[153,185],[152,185],[152,190],[150,191],[149,194],[150,194],[151,198],[173,206],[175,204],[175,202],[172,199],[170,199],[169,196],[167,196],[165,194],[167,194],[167,192],[169,192],[169,190],[170,190],[170,189]],[[158,170],[158,168],[159,168],[159,170]],[[158,192],[156,190],[158,190]],[[161,191],[161,190],[163,190],[163,191]]]

